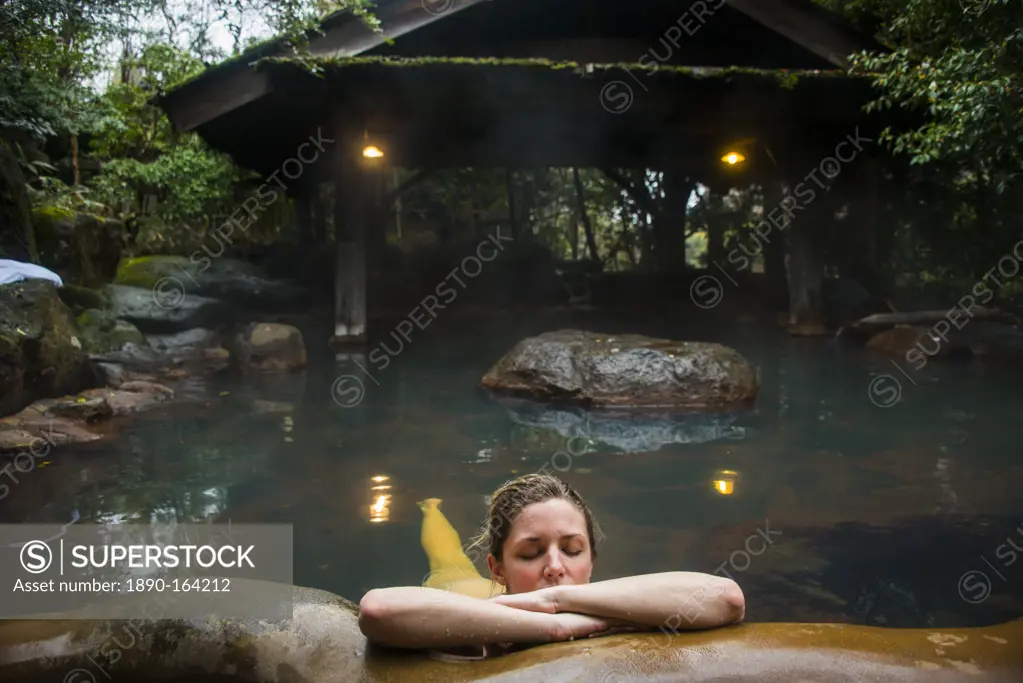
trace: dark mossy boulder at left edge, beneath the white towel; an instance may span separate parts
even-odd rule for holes
[[[97,384],[56,286],[41,279],[0,285],[0,415]]]

